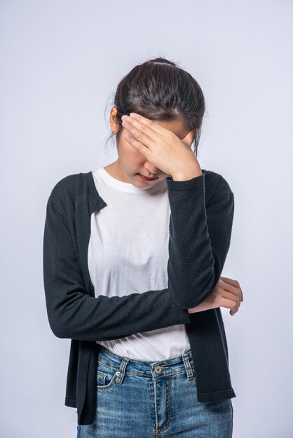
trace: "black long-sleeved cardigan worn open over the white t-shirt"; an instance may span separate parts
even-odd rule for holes
[[[65,176],[48,198],[43,234],[43,283],[50,328],[71,339],[65,405],[79,425],[96,411],[97,343],[186,324],[198,402],[236,397],[221,308],[188,313],[219,281],[231,240],[233,192],[202,169],[187,181],[166,178],[170,202],[168,288],[123,297],[95,297],[88,271],[90,216],[106,202],[92,172]]]

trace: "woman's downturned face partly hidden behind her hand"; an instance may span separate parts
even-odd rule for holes
[[[115,123],[116,112],[117,109],[115,106],[113,106],[110,112],[110,125],[112,132],[115,132],[118,128]],[[167,129],[170,129],[170,131],[174,132],[179,139],[184,139],[186,134],[189,132],[184,126],[182,120],[179,119],[156,123]],[[131,183],[142,190],[148,189],[157,184],[159,181],[167,178],[167,174],[149,162],[142,153],[139,153],[137,150],[135,150],[135,148],[132,148],[130,143],[128,143],[128,141],[124,138],[125,134],[127,133],[127,129],[122,127],[121,136],[119,140],[117,140],[118,159],[105,167],[109,174],[114,176],[114,178],[118,179],[119,181]],[[156,178],[152,181],[144,181],[142,178],[140,178],[139,174],[149,178]]]

